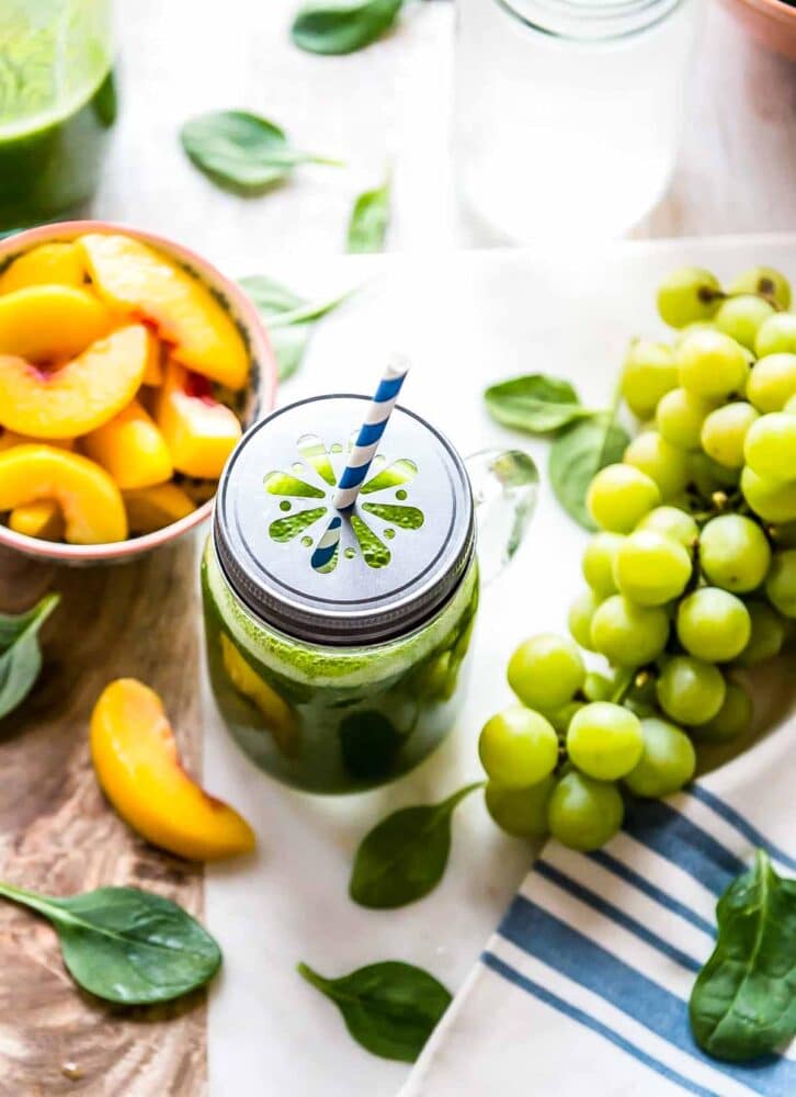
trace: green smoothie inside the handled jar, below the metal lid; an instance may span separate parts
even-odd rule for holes
[[[212,539],[202,564],[207,659],[231,734],[263,769],[311,792],[352,792],[417,766],[450,731],[478,606],[470,564],[445,607],[371,646],[293,640],[230,590]]]

